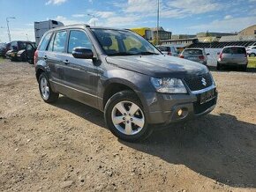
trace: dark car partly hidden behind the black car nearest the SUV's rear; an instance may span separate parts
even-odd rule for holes
[[[11,61],[18,61],[17,54],[20,50],[26,49],[26,43],[33,43],[30,41],[11,41],[10,50],[5,54],[6,58],[11,59]]]

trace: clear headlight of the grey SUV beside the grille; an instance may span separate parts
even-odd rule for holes
[[[179,78],[150,78],[156,92],[186,93],[186,88]]]

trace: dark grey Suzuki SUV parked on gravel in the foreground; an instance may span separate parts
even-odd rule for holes
[[[200,63],[162,55],[129,30],[62,26],[45,33],[34,54],[41,98],[59,93],[104,112],[111,132],[146,138],[151,124],[180,122],[211,112],[215,82]]]

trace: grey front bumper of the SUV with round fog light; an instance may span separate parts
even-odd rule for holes
[[[188,94],[162,94],[156,92],[152,100],[147,99],[148,122],[151,124],[169,124],[210,113],[215,108],[218,92],[215,89],[215,97],[203,104],[200,104],[200,95],[211,89],[215,89],[215,86]],[[182,115],[177,114],[180,109],[183,111]]]

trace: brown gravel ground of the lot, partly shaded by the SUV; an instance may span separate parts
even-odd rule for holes
[[[213,75],[211,114],[129,144],[92,107],[44,103],[33,65],[2,60],[0,191],[256,191],[256,74]]]

